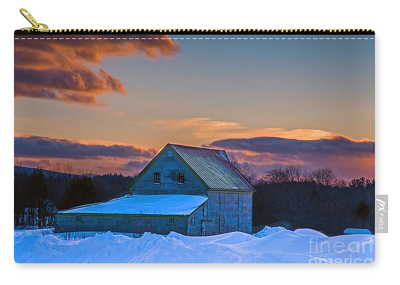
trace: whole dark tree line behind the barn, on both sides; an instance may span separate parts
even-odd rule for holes
[[[347,227],[374,231],[375,180],[359,177],[345,181],[331,168],[307,170],[299,164],[274,167],[258,176],[248,163],[233,165],[254,186],[253,231],[264,225],[287,229],[313,228],[327,235]],[[56,170],[27,171],[14,167],[14,225],[53,226],[52,212],[106,201],[128,194],[133,176],[116,173],[92,175],[69,164]]]

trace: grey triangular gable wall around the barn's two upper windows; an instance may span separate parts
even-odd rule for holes
[[[177,173],[185,173],[185,183],[177,183]],[[160,172],[160,184],[153,184],[153,172]],[[133,186],[134,195],[156,194],[187,194],[205,195],[204,186],[186,168],[186,166],[173,153],[172,157],[164,154],[155,164],[144,173],[140,180]]]

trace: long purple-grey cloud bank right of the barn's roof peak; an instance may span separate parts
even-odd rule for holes
[[[240,162],[263,173],[275,166],[299,163],[308,169],[331,167],[339,177],[373,178],[373,141],[355,141],[337,135],[331,139],[299,140],[280,137],[228,138],[213,141],[206,147],[226,149]]]

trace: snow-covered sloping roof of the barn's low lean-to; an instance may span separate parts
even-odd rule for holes
[[[101,203],[60,210],[58,213],[188,215],[208,197],[195,195],[125,195]]]

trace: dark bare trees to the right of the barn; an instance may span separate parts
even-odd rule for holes
[[[257,176],[247,163],[232,163],[254,186],[253,231],[264,225],[313,228],[327,235],[347,227],[374,232],[375,180],[345,181],[331,168],[307,170],[299,164],[274,167]]]

